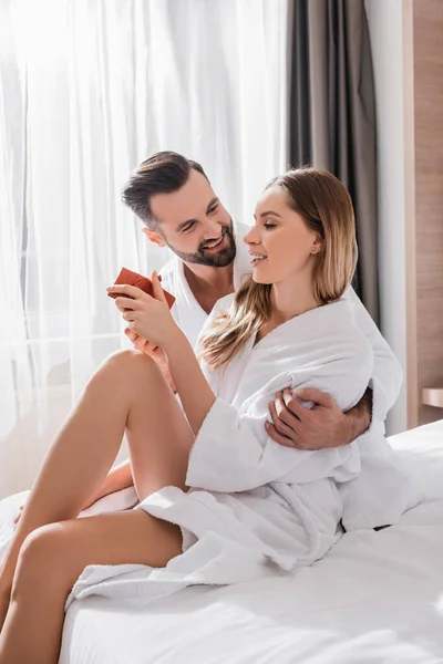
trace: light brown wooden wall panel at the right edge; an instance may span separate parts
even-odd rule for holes
[[[414,0],[415,247],[419,424],[443,417],[421,404],[443,388],[443,0]]]

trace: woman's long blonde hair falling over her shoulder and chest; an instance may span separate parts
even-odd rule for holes
[[[318,303],[341,298],[357,264],[356,220],[351,197],[337,177],[320,168],[297,168],[274,178],[266,187],[286,191],[289,207],[322,240],[316,256],[313,292]],[[209,369],[229,362],[271,314],[270,283],[251,277],[237,290],[228,311],[217,315],[199,339],[199,357]]]

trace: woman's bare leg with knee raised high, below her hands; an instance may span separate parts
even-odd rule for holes
[[[25,537],[80,513],[110,470],[125,428],[138,497],[184,487],[194,435],[163,374],[137,351],[112,355],[56,436],[0,567],[0,631]]]

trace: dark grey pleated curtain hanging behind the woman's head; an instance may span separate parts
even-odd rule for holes
[[[326,168],[356,209],[354,288],[379,320],[375,104],[363,0],[291,2],[290,160]]]

